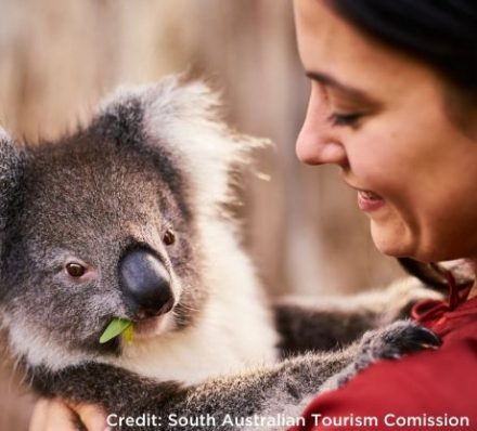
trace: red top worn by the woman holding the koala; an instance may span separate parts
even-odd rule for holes
[[[304,413],[306,426],[291,431],[477,430],[477,297],[465,301],[454,291],[413,312],[441,337],[439,350],[378,362],[317,396]]]

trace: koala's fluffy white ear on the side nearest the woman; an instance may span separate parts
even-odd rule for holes
[[[227,127],[218,115],[218,94],[202,81],[181,83],[172,76],[157,84],[120,89],[103,105],[103,113],[124,112],[138,102],[145,145],[169,152],[192,180],[193,195],[206,206],[231,200],[236,167],[248,161],[250,149],[267,142]]]

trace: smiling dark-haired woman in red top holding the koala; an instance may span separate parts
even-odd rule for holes
[[[382,252],[475,264],[477,3],[295,0],[294,5],[300,57],[311,80],[299,159],[340,167]],[[446,429],[443,421],[453,423],[454,417],[464,420],[459,429],[476,429],[477,286],[453,289],[451,299],[425,313],[415,310],[442,338],[441,349],[376,364],[341,390],[317,397],[305,414],[307,429],[434,430]],[[74,409],[89,430],[104,429],[94,407]],[[67,430],[69,415],[60,403],[40,402],[30,430]],[[364,417],[370,419],[361,426]]]

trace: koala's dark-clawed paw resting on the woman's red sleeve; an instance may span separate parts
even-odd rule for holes
[[[440,344],[440,339],[434,332],[411,321],[398,321],[384,328],[368,331],[359,343],[354,360],[330,378],[322,390],[341,387],[378,360],[397,360],[409,353],[438,349]]]

